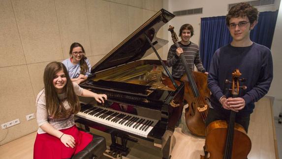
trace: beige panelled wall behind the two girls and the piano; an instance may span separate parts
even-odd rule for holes
[[[0,124],[21,122],[0,129],[0,145],[37,130],[26,115],[36,111],[46,64],[79,42],[94,65],[160,8],[162,0],[0,0]]]

